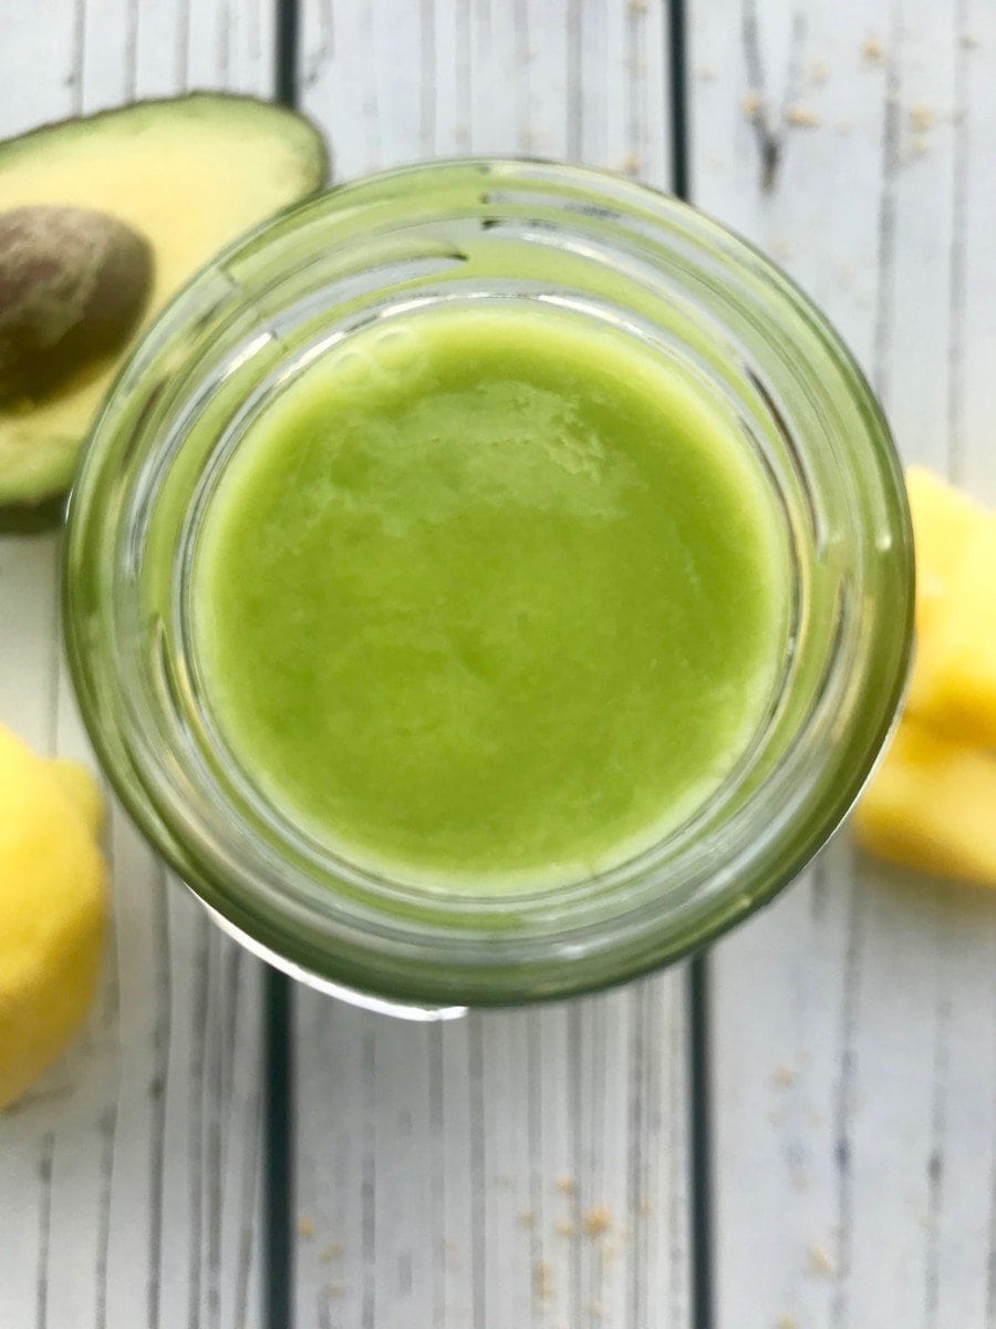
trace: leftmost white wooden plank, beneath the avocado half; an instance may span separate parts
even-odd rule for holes
[[[0,136],[135,94],[268,92],[266,7],[0,7]],[[177,182],[182,198],[182,181]],[[0,198],[3,207],[3,198]],[[0,537],[0,722],[89,759],[61,658],[58,540]],[[120,811],[85,1037],[0,1118],[3,1329],[259,1324],[259,966],[166,888]]]

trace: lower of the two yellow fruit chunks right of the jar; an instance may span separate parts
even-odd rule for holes
[[[996,886],[996,756],[903,719],[854,831],[880,859]]]

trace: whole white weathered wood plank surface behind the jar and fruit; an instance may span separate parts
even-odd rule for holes
[[[687,8],[696,201],[829,310],[904,456],[996,502],[996,5]],[[340,178],[525,152],[669,181],[664,0],[300,19]],[[0,0],[0,133],[187,86],[270,93],[274,44],[267,0]],[[54,537],[0,538],[0,720],[80,755],[56,560]],[[0,1329],[255,1329],[259,968],[117,813],[110,845],[97,1017],[0,1119]],[[717,1329],[996,1324],[996,898],[841,836],[709,974]],[[299,991],[300,1329],[709,1329],[685,1002],[679,970],[428,1029]]]

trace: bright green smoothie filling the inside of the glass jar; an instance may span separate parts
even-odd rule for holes
[[[426,888],[652,844],[744,754],[785,651],[785,538],[733,421],[635,335],[534,300],[317,356],[227,464],[193,577],[236,762]]]

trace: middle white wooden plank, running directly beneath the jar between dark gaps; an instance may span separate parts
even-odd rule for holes
[[[305,0],[304,108],[340,178],[518,152],[663,183],[664,21]],[[424,1029],[299,990],[299,1329],[687,1325],[684,997],[669,974]]]

